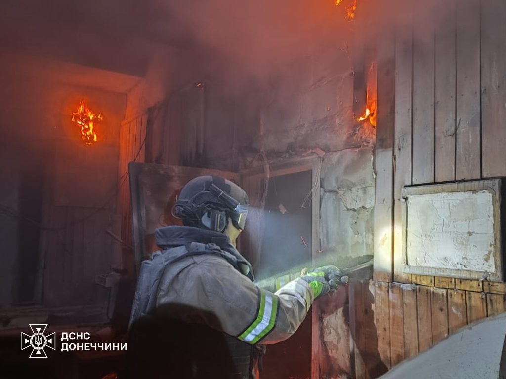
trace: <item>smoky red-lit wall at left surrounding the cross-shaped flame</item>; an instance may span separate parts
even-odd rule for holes
[[[104,88],[114,76],[108,82],[103,71],[69,67],[33,57],[3,60],[0,266],[5,306],[107,299],[107,291],[94,282],[95,274],[109,272],[112,262],[106,230],[114,219],[126,97]],[[95,82],[87,76],[95,76]],[[96,82],[99,77],[103,83]],[[83,144],[72,122],[81,100],[104,116],[96,146]]]

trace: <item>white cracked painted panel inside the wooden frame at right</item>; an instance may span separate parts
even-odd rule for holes
[[[495,271],[492,194],[407,197],[408,266]]]

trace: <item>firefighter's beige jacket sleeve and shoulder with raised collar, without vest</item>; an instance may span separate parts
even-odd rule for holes
[[[160,248],[172,247],[175,241],[206,244],[213,237],[221,250],[238,258],[238,265],[234,267],[234,262],[217,254],[189,255],[167,265],[156,305],[184,305],[192,311],[180,317],[204,323],[250,345],[274,344],[290,337],[314,300],[314,292],[305,280],[292,280],[272,293],[251,281],[249,264],[222,233],[185,226],[156,231]]]

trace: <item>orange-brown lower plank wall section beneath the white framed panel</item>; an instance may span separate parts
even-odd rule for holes
[[[456,287],[455,281],[420,275],[412,283],[350,282],[355,377],[377,377],[458,328],[506,312],[504,286],[463,280],[460,287],[471,290]]]

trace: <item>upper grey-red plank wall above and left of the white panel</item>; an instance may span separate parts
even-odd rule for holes
[[[506,175],[506,3],[463,0],[404,2],[416,22],[399,26],[395,38],[393,170],[383,135],[390,135],[389,102],[378,98],[375,168],[375,234],[393,242],[393,257],[378,249],[374,279],[408,282],[403,273],[402,187]],[[420,8],[421,7],[421,8]],[[434,20],[431,10],[444,10]],[[429,13],[429,16],[426,16]],[[408,13],[409,14],[409,13]],[[408,17],[409,19],[409,17]],[[424,22],[430,19],[431,22]],[[379,45],[379,42],[378,42]],[[381,64],[378,63],[381,67]],[[378,94],[388,93],[378,78]],[[385,95],[384,95],[385,96]],[[380,138],[381,137],[381,138]],[[387,156],[385,156],[387,154]],[[389,204],[393,183],[393,212]],[[392,224],[384,238],[381,225]]]

